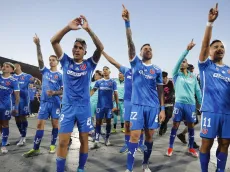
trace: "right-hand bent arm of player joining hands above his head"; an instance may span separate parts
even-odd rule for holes
[[[88,34],[92,38],[92,40],[93,40],[93,42],[97,48],[93,54],[93,60],[97,63],[100,60],[101,53],[104,50],[104,46],[101,43],[101,41],[98,39],[98,37],[95,35],[95,33],[89,27],[88,21],[85,18],[85,16],[81,15],[80,18],[83,20],[82,28],[85,29],[86,32],[88,32]]]

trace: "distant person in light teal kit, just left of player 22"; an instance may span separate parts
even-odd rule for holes
[[[115,79],[116,83],[117,83],[117,92],[118,92],[118,97],[119,97],[119,116],[120,116],[120,121],[121,121],[121,132],[125,132],[124,129],[124,83],[125,83],[125,79],[124,79],[124,75],[119,72],[118,75],[118,79]],[[112,133],[116,133],[117,132],[117,115],[113,116],[113,129],[112,129]]]

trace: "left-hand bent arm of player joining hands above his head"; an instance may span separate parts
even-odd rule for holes
[[[60,41],[63,38],[63,36],[68,33],[71,30],[79,30],[81,29],[79,26],[81,24],[81,19],[80,18],[76,18],[74,20],[72,20],[71,22],[69,22],[69,24],[64,27],[62,30],[60,30],[58,33],[56,33],[50,40],[54,52],[57,55],[58,59],[61,58],[61,56],[63,55],[63,51],[60,45]]]

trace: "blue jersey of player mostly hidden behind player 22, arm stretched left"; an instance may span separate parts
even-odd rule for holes
[[[132,97],[132,70],[121,66],[120,72],[124,75],[125,78],[125,93],[124,93],[124,100],[131,101]]]

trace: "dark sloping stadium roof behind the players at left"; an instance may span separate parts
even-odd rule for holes
[[[41,75],[39,68],[37,66],[33,66],[30,64],[22,63],[22,62],[19,62],[16,60],[12,60],[12,59],[8,59],[8,58],[0,56],[0,64],[2,65],[5,62],[18,63],[21,65],[23,72],[31,74],[32,76],[34,76],[40,80],[42,79],[42,75]]]

